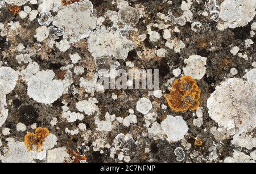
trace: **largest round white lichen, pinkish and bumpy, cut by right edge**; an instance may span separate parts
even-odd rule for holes
[[[224,130],[246,133],[256,127],[256,93],[250,83],[232,78],[222,82],[207,101],[209,116]]]

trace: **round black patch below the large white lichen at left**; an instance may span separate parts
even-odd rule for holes
[[[26,126],[36,123],[38,119],[38,111],[32,105],[24,105],[18,110],[19,122]]]

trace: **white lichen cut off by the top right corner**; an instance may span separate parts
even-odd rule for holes
[[[220,6],[220,18],[229,28],[246,26],[256,12],[255,0],[225,0]]]

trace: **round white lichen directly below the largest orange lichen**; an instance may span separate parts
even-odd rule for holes
[[[188,125],[181,116],[167,116],[161,126],[169,142],[180,141],[188,132]]]

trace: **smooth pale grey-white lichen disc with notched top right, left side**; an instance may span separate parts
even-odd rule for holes
[[[52,70],[39,71],[27,83],[27,94],[38,103],[51,104],[63,94],[64,85],[61,80],[52,80]]]

